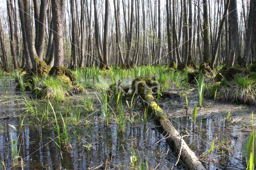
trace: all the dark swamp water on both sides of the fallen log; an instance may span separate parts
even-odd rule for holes
[[[22,157],[24,169],[104,169],[106,160],[109,162],[108,169],[132,169],[131,146],[135,150],[135,156],[138,157],[137,166],[141,162],[147,163],[149,169],[186,169],[182,163],[174,166],[177,155],[172,151],[172,146],[166,140],[162,140],[164,138],[162,131],[160,128],[154,128],[158,125],[149,117],[145,128],[141,121],[133,123],[126,121],[124,134],[120,134],[114,120],[110,121],[108,128],[104,125],[100,111],[83,113],[78,125],[68,126],[71,145],[68,146],[68,150],[62,148],[62,152],[60,152],[60,148],[52,140],[57,142],[54,121],[44,125],[44,123],[40,124],[33,119],[28,119],[29,116],[27,116],[22,128],[22,145],[20,146],[19,132],[14,131],[8,124],[14,125],[18,130],[19,115],[22,115],[25,109],[21,102],[21,93],[15,91],[15,86],[8,87],[8,83],[6,84],[7,95],[5,95],[3,83],[0,87],[1,169],[4,169],[4,166],[6,169],[13,168],[11,135],[14,142],[18,140],[17,152],[20,150],[19,155]],[[90,94],[93,95],[94,92],[91,91]],[[96,107],[94,111],[96,111],[100,105],[95,94],[94,99],[94,107]],[[160,101],[160,106],[164,112],[168,113],[170,121],[180,134],[185,135],[188,131],[192,135],[186,139],[186,142],[196,155],[203,159],[202,162],[206,168],[246,168],[242,151],[244,140],[252,132],[250,116],[252,112],[255,113],[254,108],[216,103],[214,107],[198,109],[196,130],[192,133],[192,121],[189,116],[184,116],[186,115],[184,109],[186,104],[184,101],[182,103],[177,101],[178,99],[173,101],[163,99]],[[195,102],[195,100],[189,102],[189,114],[192,113]],[[66,103],[64,102],[59,103],[57,108],[62,108],[65,115],[65,107]],[[224,120],[230,110],[233,123],[225,127]],[[58,112],[58,110],[56,111]],[[210,149],[212,140],[214,140],[214,151],[205,158],[204,153]],[[208,158],[212,158],[210,166]],[[16,169],[21,169],[20,160],[18,158]]]

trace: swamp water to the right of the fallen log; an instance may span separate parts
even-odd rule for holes
[[[245,141],[252,134],[252,112],[256,113],[255,107],[236,105],[232,103],[216,103],[207,101],[206,106],[197,108],[195,132],[192,132],[193,123],[190,119],[194,105],[197,103],[196,96],[190,97],[188,116],[186,116],[186,101],[174,101],[164,99],[161,101],[162,109],[168,113],[169,120],[181,135],[190,134],[186,143],[196,153],[203,164],[209,169],[246,169],[244,150]],[[225,127],[225,120],[230,111],[230,121]],[[254,115],[254,121],[255,121]],[[254,125],[255,126],[255,125]],[[188,133],[187,133],[188,132]],[[214,140],[214,150],[207,154]],[[210,166],[209,166],[210,158]]]

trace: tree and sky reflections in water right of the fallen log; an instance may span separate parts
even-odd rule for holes
[[[183,134],[193,128],[189,117],[179,117],[170,119],[170,121]],[[244,138],[248,137],[250,132],[244,133],[240,127],[240,123],[224,127],[224,119],[221,114],[197,117],[195,133],[190,132],[192,136],[186,142],[199,156],[210,149],[211,141],[214,140],[215,149],[211,157],[222,156],[216,158],[214,164],[211,160],[210,169],[244,169],[246,162],[242,156],[242,145]],[[218,147],[216,148],[216,146]]]

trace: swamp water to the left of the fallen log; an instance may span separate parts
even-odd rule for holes
[[[44,123],[42,119],[41,123],[38,123],[35,118],[30,119],[29,116],[26,116],[24,121],[21,133],[22,145],[20,145],[18,136],[20,133],[10,125],[19,130],[19,115],[23,117],[23,112],[26,110],[21,102],[21,94],[15,91],[15,86],[12,86],[5,95],[5,89],[1,86],[0,95],[1,169],[13,168],[11,146],[15,147],[16,140],[18,145],[14,156],[19,152],[22,159],[17,159],[14,169],[22,167],[24,169],[104,169],[106,160],[108,160],[107,169],[132,169],[131,146],[135,150],[135,156],[138,157],[137,167],[140,163],[147,163],[149,169],[185,168],[181,163],[174,166],[177,155],[169,149],[170,145],[166,140],[161,140],[164,136],[154,120],[148,118],[146,127],[141,121],[135,120],[133,123],[126,121],[124,134],[120,134],[114,120],[110,121],[108,128],[104,125],[100,111],[96,111],[100,106],[97,101],[94,101],[96,112],[81,113],[79,124],[68,125],[68,134],[70,134],[68,150],[62,148],[60,152],[60,148],[55,143],[58,141],[54,121]],[[43,107],[43,104],[38,104],[38,108],[39,105]],[[65,107],[66,102],[59,103],[56,108],[65,110]],[[66,112],[62,113],[65,117]],[[60,111],[56,109],[56,115],[59,114]],[[60,119],[58,120],[61,121]],[[60,131],[63,132],[61,123]]]

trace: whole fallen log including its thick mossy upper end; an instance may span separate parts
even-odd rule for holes
[[[174,128],[172,123],[169,121],[168,117],[164,114],[159,105],[155,102],[152,95],[151,86],[144,81],[150,77],[138,77],[132,82],[133,93],[137,91],[140,96],[148,103],[149,109],[154,113],[157,122],[162,126],[164,132],[167,134],[168,140],[174,146],[174,151],[180,156],[180,159],[185,164],[186,168],[189,170],[205,170],[202,163],[198,160],[195,153],[188,147],[186,142],[183,140],[182,136]],[[141,81],[140,81],[141,80]],[[151,82],[156,82],[152,79]],[[155,85],[155,84],[154,84]]]

